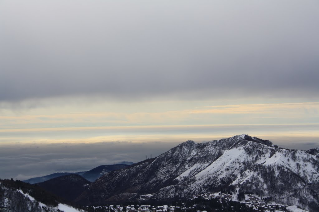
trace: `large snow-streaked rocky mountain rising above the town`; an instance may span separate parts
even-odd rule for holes
[[[205,192],[245,194],[319,211],[319,161],[303,150],[289,150],[249,135],[207,143],[186,141],[156,158],[109,172],[76,201],[125,201],[142,194],[156,200],[187,198]]]

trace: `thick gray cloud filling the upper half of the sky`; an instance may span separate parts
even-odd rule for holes
[[[317,1],[0,4],[0,101],[318,95]]]

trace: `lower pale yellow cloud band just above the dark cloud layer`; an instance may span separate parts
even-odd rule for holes
[[[295,127],[293,127],[296,125]],[[121,133],[121,132],[115,132],[113,134],[105,134],[101,136],[89,136],[84,135],[81,137],[74,136],[73,138],[51,138],[50,136],[39,136],[39,137],[2,137],[0,138],[0,144],[14,144],[14,143],[97,143],[97,142],[114,142],[114,141],[130,141],[134,143],[143,143],[143,142],[176,142],[181,143],[186,140],[195,140],[197,142],[202,141],[209,141],[209,140],[216,140],[221,138],[227,138],[234,136],[236,134],[241,133],[247,133],[251,136],[256,136],[262,139],[268,139],[272,140],[274,142],[280,141],[280,140],[287,140],[288,138],[293,138],[293,140],[300,140],[307,141],[309,138],[318,138],[319,137],[319,131],[315,130],[315,128],[319,127],[319,124],[312,124],[309,129],[303,128],[300,130],[296,130],[298,127],[302,127],[302,125],[297,124],[290,124],[290,125],[283,125],[283,124],[277,124],[277,125],[210,125],[210,126],[139,126],[139,127],[113,127],[112,129],[120,128],[125,132],[127,129],[138,129],[141,132],[140,133]],[[147,129],[152,129],[157,127],[158,129],[174,129],[179,128],[183,129],[183,132],[177,132],[177,133],[148,133]],[[211,128],[211,132],[209,130],[206,130],[202,133],[198,133],[196,128]],[[305,126],[307,127],[307,126]],[[98,129],[101,129],[102,127],[98,127]],[[104,128],[104,127],[103,127]],[[228,130],[220,130],[223,128],[227,128]],[[274,128],[278,128],[278,130],[273,130]],[[55,133],[62,131],[68,131],[68,130],[77,130],[77,131],[83,131],[83,130],[92,130],[92,127],[78,127],[78,128],[71,128],[71,129],[23,129],[23,132],[41,132],[41,131],[54,131]],[[96,128],[94,128],[96,129]],[[108,128],[110,129],[110,128]],[[145,132],[142,132],[142,129],[145,130]],[[40,130],[40,131],[37,131]],[[49,132],[47,131],[47,132]],[[0,131],[3,132],[3,131]],[[15,131],[18,132],[18,131]],[[21,132],[21,131],[19,131]]]

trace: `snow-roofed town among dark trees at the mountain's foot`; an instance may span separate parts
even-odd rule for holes
[[[141,195],[139,200],[147,201],[152,195]],[[245,194],[245,201],[237,202],[231,200],[230,194],[204,193],[193,195],[185,202],[176,202],[170,205],[107,205],[87,207],[88,212],[282,212],[287,211],[286,206],[281,204],[268,204],[269,196],[257,197]]]

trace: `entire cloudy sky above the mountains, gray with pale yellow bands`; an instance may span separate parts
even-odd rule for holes
[[[246,133],[319,146],[319,2],[0,0],[0,178]]]

